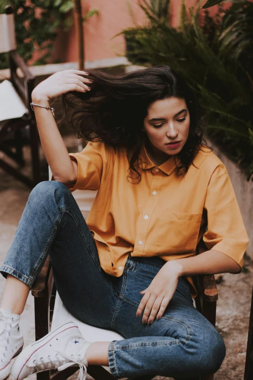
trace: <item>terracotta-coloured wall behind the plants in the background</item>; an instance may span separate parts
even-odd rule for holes
[[[138,5],[138,0],[128,0],[132,6],[136,22],[143,24],[145,16]],[[172,1],[172,25],[176,26],[179,20],[179,9],[181,0]],[[198,0],[186,0],[191,6]],[[203,1],[204,2],[204,1]],[[96,8],[98,16],[88,19],[83,26],[85,36],[85,60],[94,61],[103,58],[113,58],[124,55],[125,42],[123,36],[112,39],[124,28],[134,25],[127,9],[127,0],[82,0],[82,13],[85,15],[90,9]],[[211,8],[211,15],[215,13],[217,6]],[[35,53],[30,65],[39,57]],[[62,29],[55,41],[55,49],[50,63],[74,62],[78,60],[75,27],[64,33]]]

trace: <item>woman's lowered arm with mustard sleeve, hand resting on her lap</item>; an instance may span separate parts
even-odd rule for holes
[[[238,273],[249,238],[236,195],[224,166],[218,165],[208,184],[205,199],[207,231],[203,241],[208,249],[197,256],[168,261],[144,289],[136,316],[144,310],[142,323],[159,319],[177,287],[180,276]],[[179,232],[180,233],[180,232]]]

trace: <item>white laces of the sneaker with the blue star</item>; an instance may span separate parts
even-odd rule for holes
[[[66,362],[65,360],[61,360],[59,358],[58,354],[60,354],[63,358],[67,359],[68,362]],[[56,369],[57,368],[58,371],[63,371],[63,369],[68,368],[72,365],[79,365],[80,370],[79,370],[78,380],[85,380],[86,379],[87,368],[83,363],[81,363],[81,355],[80,354],[78,355],[78,360],[75,360],[74,355],[68,356],[63,352],[58,351],[55,354],[55,358],[56,358],[56,360],[53,360],[51,358],[51,356],[48,355],[47,359],[49,360],[49,362],[46,362],[46,363],[45,363],[43,357],[41,357],[39,359],[40,363],[38,362],[37,359],[34,359],[32,361],[32,363],[33,363],[34,368],[36,368],[36,371],[32,372],[30,375],[28,375],[28,377],[30,378],[34,374],[37,374],[38,372],[41,372],[41,371],[46,371],[47,369]],[[83,371],[84,371],[84,373],[83,373]]]

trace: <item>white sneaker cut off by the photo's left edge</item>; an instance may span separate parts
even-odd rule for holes
[[[19,319],[20,315],[12,314],[11,310],[0,309],[0,380],[10,374],[11,361],[23,348]]]

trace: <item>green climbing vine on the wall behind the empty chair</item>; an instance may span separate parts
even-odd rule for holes
[[[4,13],[6,5],[11,5],[15,14],[16,44],[19,55],[27,62],[35,50],[40,51],[40,58],[33,65],[48,63],[53,42],[59,27],[67,31],[73,24],[74,7],[72,0],[0,0],[0,13]],[[97,14],[91,9],[83,18]],[[54,62],[57,63],[57,62]],[[8,55],[0,54],[0,69],[8,67]]]

